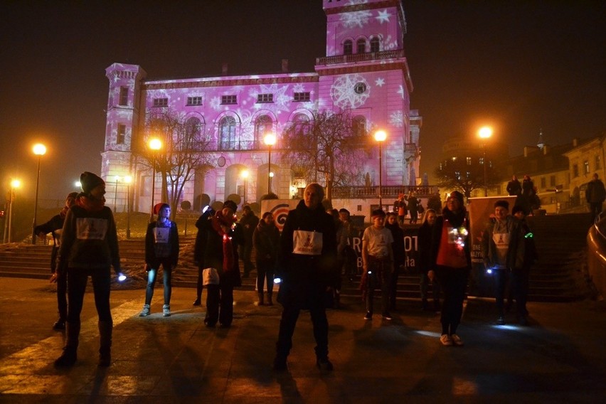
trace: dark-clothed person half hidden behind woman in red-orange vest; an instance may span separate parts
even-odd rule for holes
[[[433,226],[437,219],[437,213],[433,209],[427,209],[423,216],[423,223],[419,228],[419,268],[420,268],[420,289],[421,289],[421,308],[429,309],[427,303],[427,289],[432,284],[432,297],[434,309],[440,310],[440,284],[436,279],[430,280],[427,273],[430,270],[430,248]]]

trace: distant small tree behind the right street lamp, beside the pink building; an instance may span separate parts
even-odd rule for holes
[[[437,186],[460,189],[466,198],[472,196],[475,189],[484,189],[484,164],[479,159],[454,157],[442,161],[435,170]],[[498,183],[495,179],[496,169],[487,166],[488,186]]]

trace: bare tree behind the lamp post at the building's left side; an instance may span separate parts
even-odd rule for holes
[[[210,136],[200,119],[169,108],[154,110],[147,116],[145,133],[141,156],[150,167],[155,162],[156,172],[162,174],[162,200],[169,201],[174,217],[186,182],[196,170],[211,165]],[[147,147],[147,139],[151,137],[161,140],[159,151]]]

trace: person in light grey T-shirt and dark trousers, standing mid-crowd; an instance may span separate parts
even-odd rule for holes
[[[383,319],[390,320],[389,289],[393,275],[393,235],[385,228],[385,212],[373,211],[372,225],[362,235],[362,281],[360,287],[366,301],[365,320],[373,319],[374,292],[381,287]]]

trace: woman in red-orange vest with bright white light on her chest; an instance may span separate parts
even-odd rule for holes
[[[433,227],[430,248],[430,271],[427,276],[434,277],[444,292],[442,304],[442,335],[440,343],[444,346],[462,346],[463,341],[457,334],[457,328],[463,314],[463,301],[467,278],[471,271],[472,257],[467,243],[469,220],[463,204],[463,194],[452,191],[446,200],[442,216]]]

